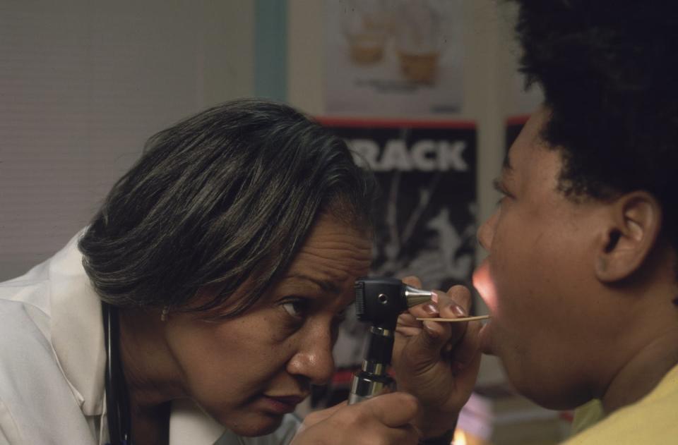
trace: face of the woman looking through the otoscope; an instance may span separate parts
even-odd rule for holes
[[[272,432],[310,384],[333,375],[338,324],[370,261],[369,238],[323,214],[285,277],[243,315],[170,315],[166,341],[184,392],[237,434]]]

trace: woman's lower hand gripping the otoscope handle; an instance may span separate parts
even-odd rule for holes
[[[403,392],[340,403],[307,415],[290,445],[416,445],[421,434],[411,422],[419,409]]]

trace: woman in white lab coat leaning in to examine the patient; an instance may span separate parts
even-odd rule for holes
[[[411,394],[314,413],[293,439],[369,270],[372,199],[344,142],[284,105],[153,136],[87,228],[0,284],[0,444],[449,443],[478,358],[433,322],[398,340],[433,376],[405,367]],[[449,386],[448,343],[470,345],[471,377],[441,401],[417,388]]]

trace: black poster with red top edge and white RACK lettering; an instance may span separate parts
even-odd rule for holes
[[[320,118],[343,138],[381,189],[371,276],[420,277],[446,291],[470,284],[476,245],[476,131],[468,122]],[[367,324],[348,312],[335,346],[339,371],[327,405],[345,400],[363,358]],[[316,406],[318,391],[314,394]]]

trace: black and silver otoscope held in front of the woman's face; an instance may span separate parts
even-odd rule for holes
[[[434,295],[394,278],[359,278],[354,288],[356,315],[360,321],[371,323],[371,327],[362,369],[353,375],[351,382],[350,405],[393,389],[393,379],[386,370],[393,354],[398,315]]]

